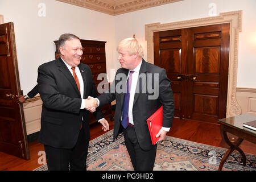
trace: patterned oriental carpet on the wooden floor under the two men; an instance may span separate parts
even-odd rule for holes
[[[217,171],[225,148],[166,137],[158,143],[155,171]],[[256,156],[246,154],[246,166],[242,158],[233,152],[222,171],[256,171]],[[87,169],[89,171],[132,171],[129,154],[122,135],[113,142],[113,130],[93,139],[89,143]],[[47,165],[35,169],[47,170]]]

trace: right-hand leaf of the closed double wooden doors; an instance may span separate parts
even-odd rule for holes
[[[193,108],[188,110],[188,118],[208,122],[225,118],[229,63],[229,31],[226,30],[229,24],[191,28],[189,49],[193,55],[189,55],[188,64],[193,66],[188,68],[188,74],[192,75],[193,84],[188,97],[192,98]],[[200,82],[208,84],[200,85]]]

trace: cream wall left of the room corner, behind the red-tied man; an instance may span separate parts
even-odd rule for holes
[[[46,5],[40,17],[38,5]],[[20,87],[29,92],[36,84],[38,66],[55,59],[55,44],[63,33],[81,39],[106,41],[107,71],[115,67],[114,16],[53,0],[0,0],[5,22],[14,22]],[[115,55],[114,55],[115,56]]]

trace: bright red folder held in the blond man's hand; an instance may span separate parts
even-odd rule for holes
[[[150,131],[150,137],[152,144],[156,144],[159,138],[155,136],[158,134],[163,125],[163,106],[161,106],[154,114],[147,119],[148,130]]]

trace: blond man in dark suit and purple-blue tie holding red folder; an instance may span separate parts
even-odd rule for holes
[[[95,106],[116,100],[114,138],[123,132],[134,170],[150,171],[154,168],[157,144],[151,142],[146,119],[163,105],[163,125],[156,135],[159,141],[163,140],[174,116],[171,82],[165,69],[143,59],[143,48],[137,39],[122,40],[117,51],[122,68],[118,69],[110,90],[90,100]],[[152,87],[154,93],[149,92]]]

